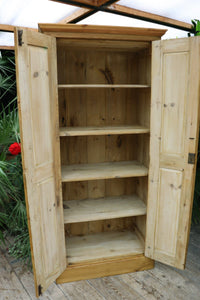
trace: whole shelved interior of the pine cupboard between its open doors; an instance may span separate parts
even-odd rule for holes
[[[57,60],[68,263],[144,253],[151,90],[123,85],[150,86],[150,43],[57,39]]]

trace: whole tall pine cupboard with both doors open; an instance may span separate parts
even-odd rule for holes
[[[199,128],[200,38],[164,30],[16,28],[36,294],[58,283],[184,268]]]

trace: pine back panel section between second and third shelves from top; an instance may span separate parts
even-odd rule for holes
[[[63,151],[65,149],[65,151]],[[135,160],[144,151],[136,135],[78,136],[61,138],[64,165]]]

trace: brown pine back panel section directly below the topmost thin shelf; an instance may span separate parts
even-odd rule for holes
[[[59,124],[115,126],[150,124],[150,89],[59,90]]]

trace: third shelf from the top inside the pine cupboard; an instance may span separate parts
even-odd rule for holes
[[[82,181],[148,175],[148,169],[138,161],[105,162],[62,166],[62,181]]]

